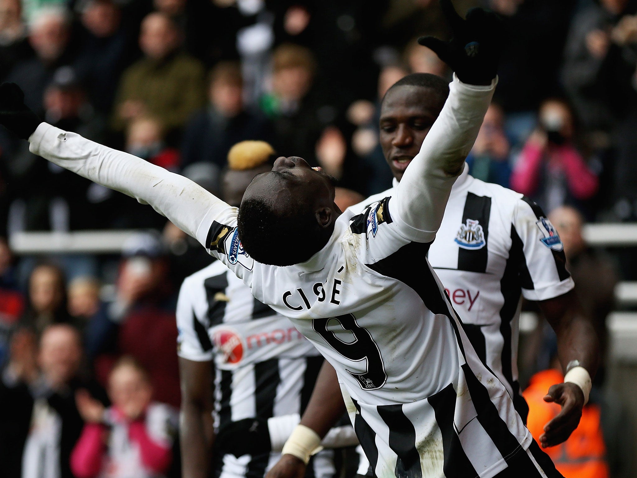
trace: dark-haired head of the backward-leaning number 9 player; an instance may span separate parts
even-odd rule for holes
[[[245,191],[237,219],[239,238],[255,261],[291,266],[322,249],[340,214],[333,178],[300,157],[279,157]]]

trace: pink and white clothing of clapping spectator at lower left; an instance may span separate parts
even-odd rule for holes
[[[71,454],[77,478],[157,478],[172,461],[172,433],[176,412],[169,405],[151,403],[145,416],[129,422],[110,409],[110,426],[87,423]]]

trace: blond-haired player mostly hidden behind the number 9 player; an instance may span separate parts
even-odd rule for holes
[[[271,170],[273,154],[263,141],[231,148],[222,178],[229,205],[238,206],[252,178]],[[232,421],[302,413],[323,357],[220,261],[183,281],[176,317],[183,476],[205,478],[211,469],[218,478],[261,478],[280,454],[220,454],[211,447],[215,435],[223,442],[218,433]],[[331,451],[313,457],[306,475],[333,477],[332,458]]]

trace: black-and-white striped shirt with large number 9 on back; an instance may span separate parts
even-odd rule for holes
[[[197,240],[334,366],[378,477],[490,478],[533,441],[426,257],[456,179],[444,165],[468,154],[494,84],[454,78],[396,194],[341,214],[304,263],[278,267],[250,257],[236,208],[214,203],[197,226]],[[276,252],[286,250],[282,241]]]

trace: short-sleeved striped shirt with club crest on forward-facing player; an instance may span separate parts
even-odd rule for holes
[[[452,187],[427,258],[478,356],[505,384],[526,421],[517,369],[521,298],[552,299],[575,284],[559,235],[540,206],[472,177],[468,169],[465,165]],[[352,209],[392,194],[394,188]]]

